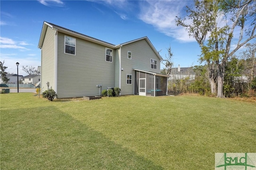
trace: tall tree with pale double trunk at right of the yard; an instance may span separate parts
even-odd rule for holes
[[[216,76],[217,97],[224,97],[223,83],[228,59],[256,38],[256,2],[194,0],[194,4],[194,8],[187,7],[188,15],[178,18],[176,24],[185,27],[202,48],[200,59],[208,65],[209,80]],[[220,20],[223,25],[218,24]],[[206,43],[207,36],[209,39]]]

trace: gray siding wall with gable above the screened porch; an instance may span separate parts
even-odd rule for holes
[[[128,51],[132,53],[131,59],[128,59]],[[123,45],[121,53],[121,67],[124,68],[124,71],[121,71],[121,95],[134,94],[133,69],[160,73],[160,59],[145,39]],[[157,69],[151,69],[150,59],[157,61]],[[126,84],[127,74],[132,75],[132,85]]]

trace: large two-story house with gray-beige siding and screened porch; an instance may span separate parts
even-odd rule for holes
[[[114,45],[44,22],[38,47],[42,92],[67,98],[119,87],[121,95],[166,95],[169,76],[160,74],[162,58],[147,37]]]

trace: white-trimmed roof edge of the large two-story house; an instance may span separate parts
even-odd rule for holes
[[[112,43],[104,42],[102,40],[99,40],[99,39],[87,36],[85,34],[81,34],[79,32],[72,31],[72,30],[69,30],[67,28],[64,28],[64,27],[61,27],[61,26],[57,26],[56,24],[52,24],[50,22],[45,22],[45,21],[44,21],[44,24],[43,24],[43,27],[42,27],[42,31],[41,31],[41,35],[40,35],[40,39],[39,39],[39,43],[38,43],[38,48],[40,48],[40,49],[42,48],[42,45],[43,45],[43,42],[44,42],[44,37],[45,37],[46,30],[47,30],[48,26],[50,28],[52,28],[52,29],[57,30],[58,32],[62,32],[64,34],[69,34],[69,35],[72,35],[72,36],[75,36],[75,37],[78,37],[78,38],[81,38],[81,39],[84,39],[84,40],[88,40],[90,42],[94,42],[94,43],[98,43],[98,44],[104,45],[106,47],[114,48],[114,49],[122,47],[122,45],[126,45],[126,44],[129,44],[129,43],[133,43],[133,42],[145,39],[148,42],[148,44],[150,45],[150,47],[153,49],[153,51],[156,53],[158,58],[160,60],[162,60],[162,57],[156,51],[155,47],[152,45],[152,43],[150,42],[148,37],[142,37],[142,38],[138,38],[136,40],[132,40],[132,41],[126,42],[126,43],[121,43],[119,45],[114,45]]]

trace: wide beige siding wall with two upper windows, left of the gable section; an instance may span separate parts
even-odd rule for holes
[[[115,50],[112,49],[112,63],[107,62],[105,46],[73,37],[76,38],[76,55],[66,54],[65,35],[58,33],[58,97],[99,95],[98,84],[102,85],[102,90],[114,87]]]

